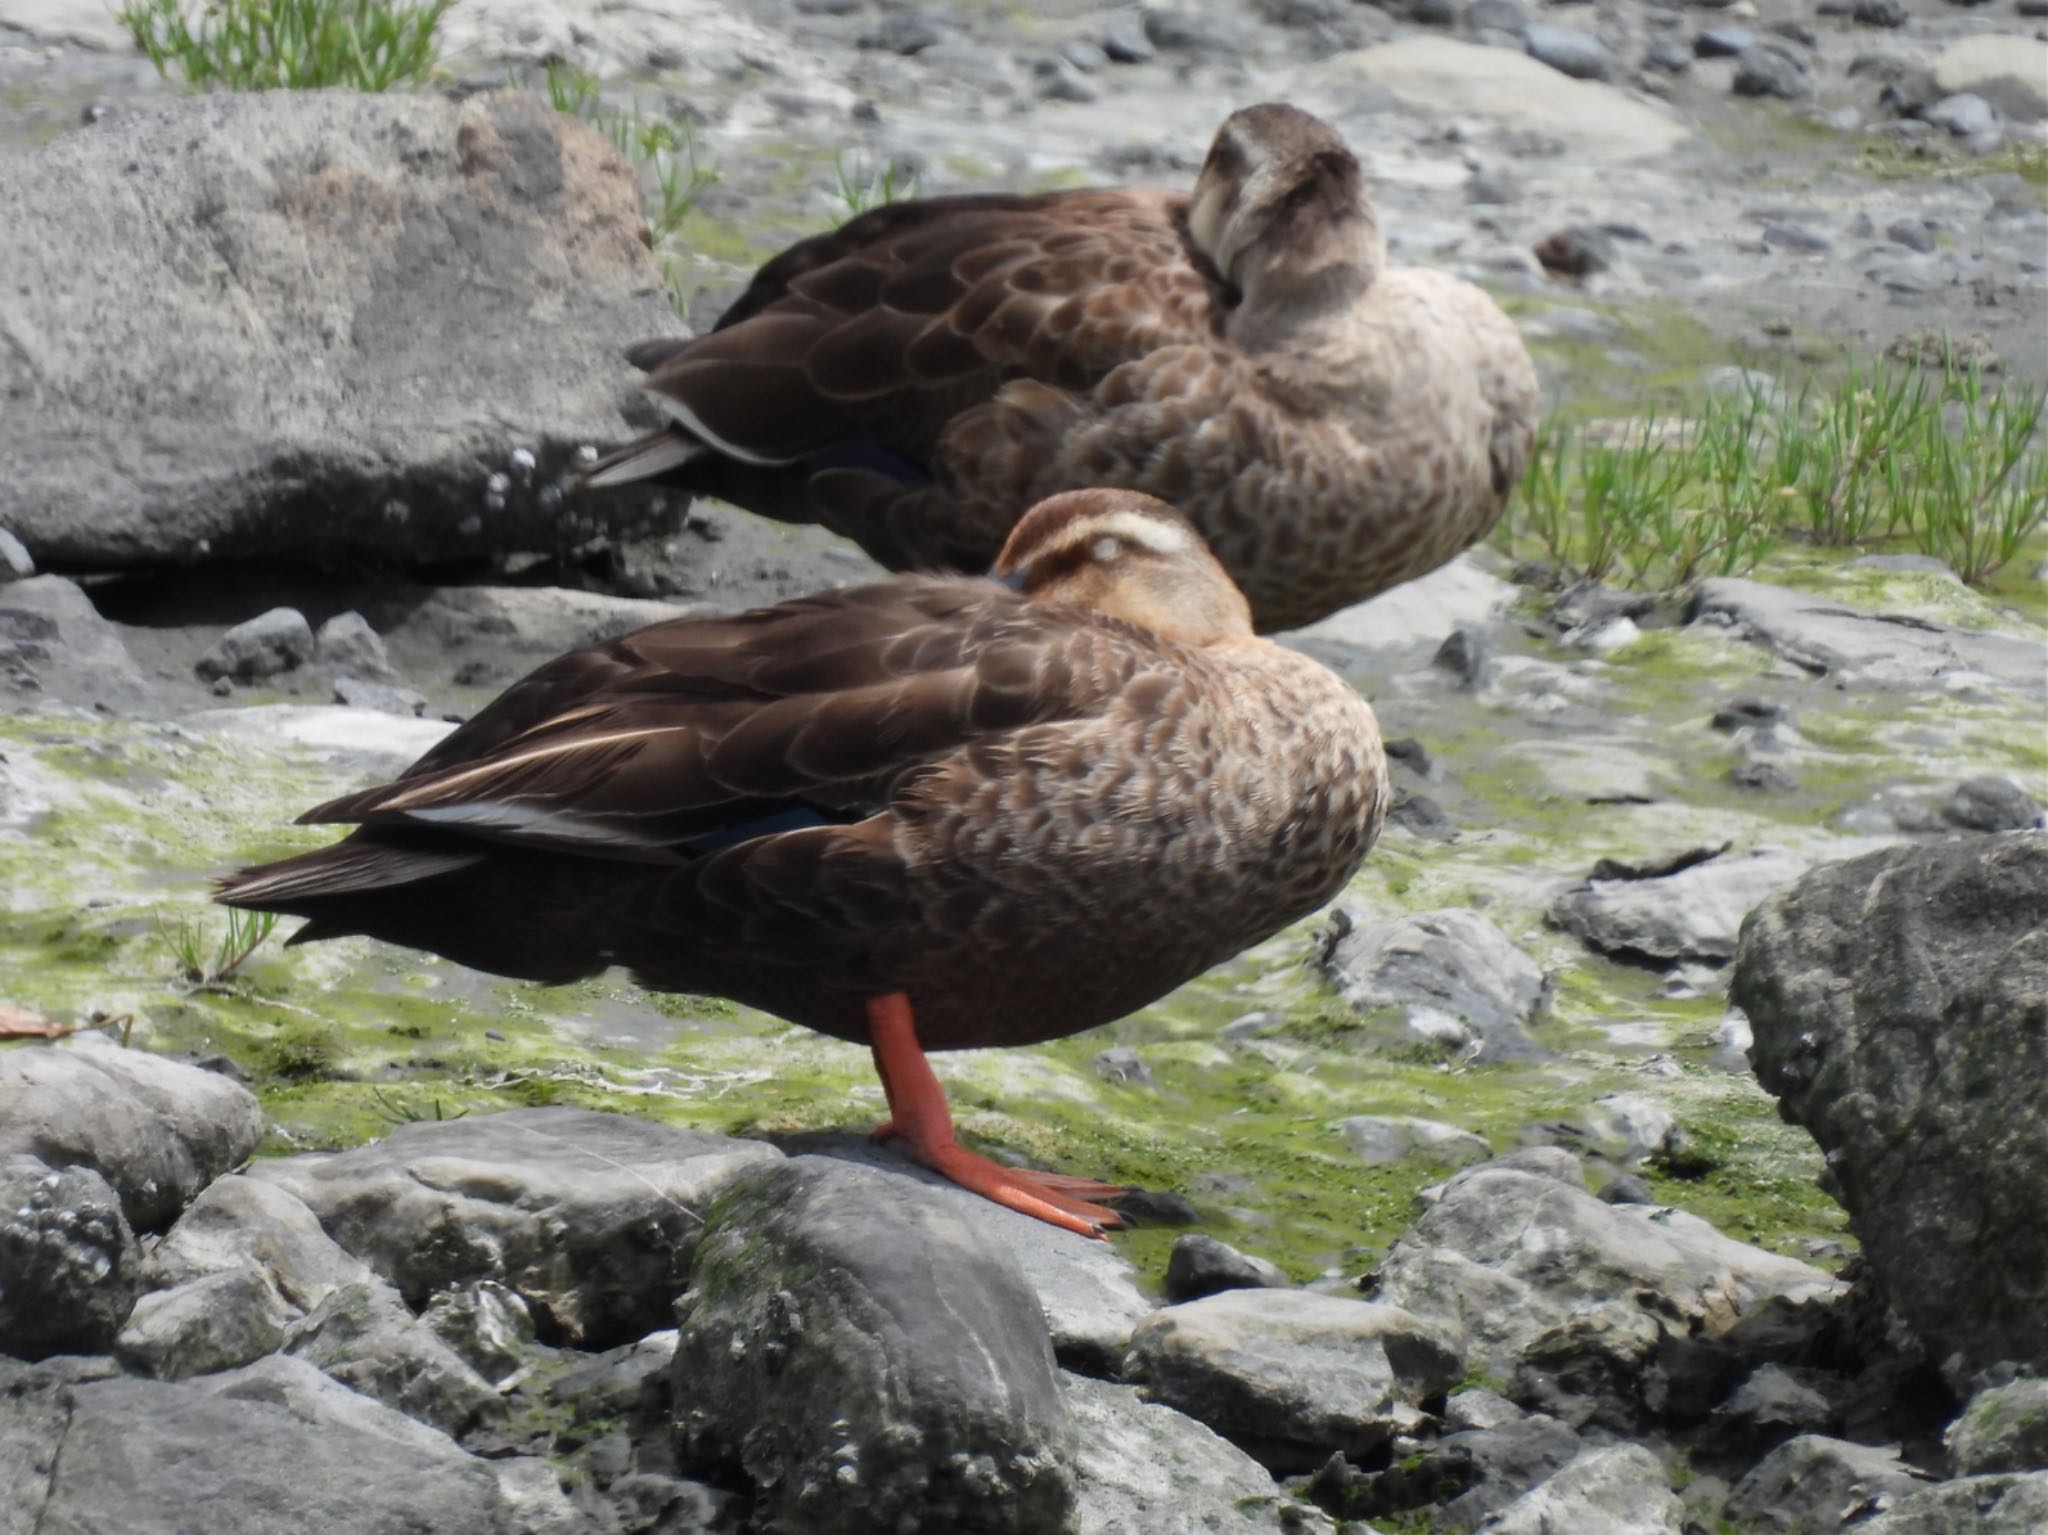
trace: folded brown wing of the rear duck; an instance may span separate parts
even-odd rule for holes
[[[1169,192],[926,199],[793,246],[709,336],[633,356],[733,458],[793,463],[864,428],[915,454],[1006,379],[1087,387],[1214,340],[1227,305]]]

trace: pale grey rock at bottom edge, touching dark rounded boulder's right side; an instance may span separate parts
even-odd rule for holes
[[[1329,1529],[1229,1439],[1135,1386],[1061,1371],[1077,1535],[1317,1535]]]

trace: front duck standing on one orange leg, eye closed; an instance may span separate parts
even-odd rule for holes
[[[1118,1193],[956,1144],[926,1050],[1108,1023],[1303,917],[1386,813],[1372,710],[1251,632],[1174,508],[1071,491],[995,579],[676,618],[514,684],[342,841],[221,880],[526,980],[625,966],[870,1044],[881,1136],[1067,1230]]]

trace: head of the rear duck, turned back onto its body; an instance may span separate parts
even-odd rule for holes
[[[1188,233],[1245,305],[1339,301],[1386,258],[1343,137],[1284,102],[1231,113],[1194,180]]]

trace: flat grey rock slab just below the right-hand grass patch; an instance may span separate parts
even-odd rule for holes
[[[1741,577],[1702,581],[1690,620],[1735,628],[1817,675],[1905,688],[1980,682],[2048,700],[2048,647],[2015,634],[1870,612]]]

